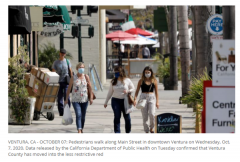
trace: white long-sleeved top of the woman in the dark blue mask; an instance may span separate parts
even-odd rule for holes
[[[110,83],[107,98],[105,100],[105,105],[107,105],[111,97],[124,99],[124,97],[126,96],[126,94],[123,93],[124,90],[127,90],[127,92],[134,91],[134,85],[129,78],[126,78],[123,82],[124,84],[118,80],[117,84],[114,86],[112,85],[112,83]]]

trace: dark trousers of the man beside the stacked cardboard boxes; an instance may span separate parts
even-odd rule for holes
[[[58,112],[59,115],[63,115],[63,106],[64,106],[64,101],[66,99],[66,93],[68,89],[68,84],[65,82],[59,82],[60,87],[58,91]],[[68,97],[68,105],[69,108],[71,107],[71,102],[70,102],[70,97]]]

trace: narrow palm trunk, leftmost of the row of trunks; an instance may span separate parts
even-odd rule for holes
[[[170,6],[170,89],[178,90],[178,60],[177,60],[177,10],[176,6]]]

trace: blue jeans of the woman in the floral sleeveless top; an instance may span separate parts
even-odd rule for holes
[[[85,123],[85,116],[88,106],[88,101],[84,103],[72,102],[76,114],[77,129],[83,129]]]

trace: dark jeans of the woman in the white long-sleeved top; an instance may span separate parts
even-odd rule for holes
[[[121,112],[123,113],[123,117],[125,120],[125,131],[126,133],[131,132],[131,117],[130,114],[125,113],[124,108],[124,99],[117,99],[112,98],[112,109],[114,113],[114,132],[121,133],[120,130],[120,119],[121,119]]]

